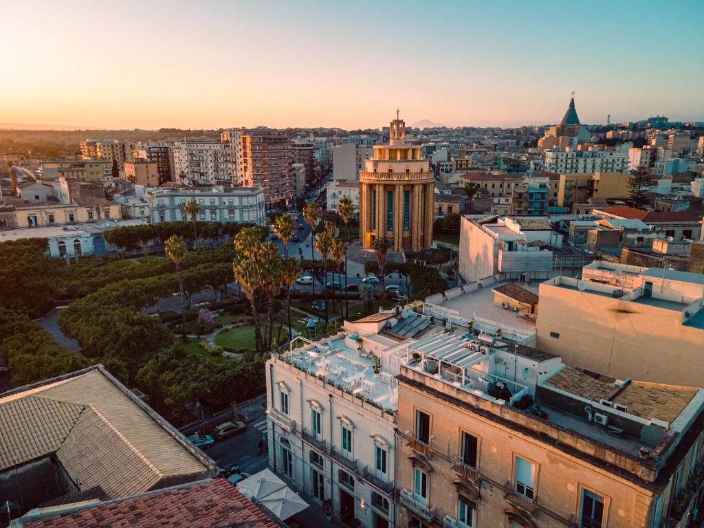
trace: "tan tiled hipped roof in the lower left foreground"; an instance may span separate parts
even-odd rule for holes
[[[80,489],[111,498],[215,471],[101,365],[0,394],[0,427],[0,471],[55,455]]]

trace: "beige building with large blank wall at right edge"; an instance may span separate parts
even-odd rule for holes
[[[615,377],[704,386],[704,275],[596,261],[540,284],[539,348]]]

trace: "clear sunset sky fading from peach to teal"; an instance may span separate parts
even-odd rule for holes
[[[704,120],[704,1],[0,0],[0,122]]]

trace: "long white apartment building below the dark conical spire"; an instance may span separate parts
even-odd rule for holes
[[[572,149],[545,151],[545,170],[556,174],[626,172],[628,166],[628,156],[618,151],[574,151]]]

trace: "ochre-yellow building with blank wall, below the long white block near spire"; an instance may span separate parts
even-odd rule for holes
[[[590,198],[625,198],[629,196],[628,175],[621,172],[561,174],[558,183],[558,206],[587,203]]]

